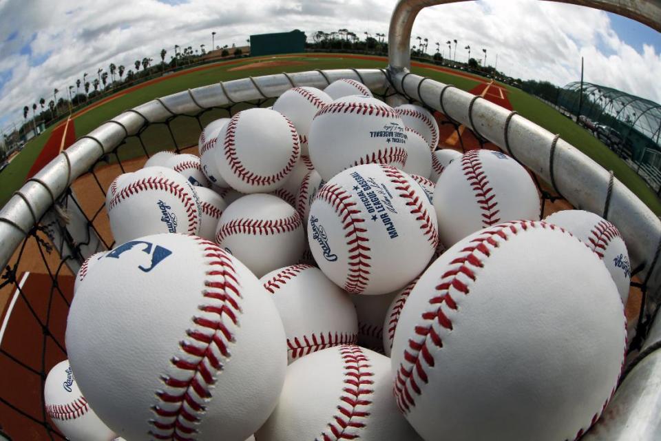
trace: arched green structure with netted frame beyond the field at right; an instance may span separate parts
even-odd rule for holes
[[[661,193],[661,104],[594,83],[571,82],[558,106],[574,115]]]

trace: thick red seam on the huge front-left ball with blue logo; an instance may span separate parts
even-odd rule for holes
[[[231,258],[215,243],[196,240],[208,259],[208,278],[202,291],[207,303],[200,305],[204,315],[193,316],[187,339],[179,343],[180,349],[194,361],[174,356],[170,361],[178,369],[177,375],[161,376],[168,391],[156,391],[158,404],[151,409],[155,418],[150,423],[158,431],[149,431],[158,440],[196,438],[196,426],[204,416],[205,404],[213,398],[211,391],[216,376],[224,368],[217,354],[231,357],[229,346],[234,336],[229,326],[237,325],[237,317],[242,314],[240,283]],[[173,403],[179,407],[170,410]]]

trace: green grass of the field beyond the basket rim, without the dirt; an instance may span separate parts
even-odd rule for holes
[[[277,74],[283,71],[298,72],[313,69],[339,69],[339,68],[385,68],[386,59],[383,61],[353,59],[347,57],[322,58],[315,57],[313,54],[309,57],[288,57],[282,61],[294,61],[296,65],[287,65],[279,67],[266,67],[250,70],[229,71],[238,65],[255,63],[256,59],[245,59],[239,64],[232,65],[213,65],[206,70],[190,72],[188,74],[173,76],[158,83],[145,85],[144,88],[134,90],[128,94],[118,96],[112,101],[99,105],[85,114],[75,119],[76,137],[83,136],[98,127],[103,121],[128,110],[136,105],[145,103],[158,96],[166,96],[188,88],[197,88],[202,85],[218,83],[218,81],[229,81],[240,79],[246,76],[260,76],[268,74]],[[461,76],[454,76],[445,72],[438,72],[429,68],[414,68],[413,72],[423,76],[441,81],[442,83],[452,83],[463,90],[471,90],[479,81],[467,79]],[[507,87],[507,86],[505,86]],[[627,164],[608,150],[605,145],[589,134],[582,127],[569,121],[565,116],[556,112],[545,103],[518,90],[507,87],[510,91],[509,98],[521,115],[534,121],[545,129],[553,133],[559,133],[563,139],[575,145],[585,154],[593,158],[597,163],[607,170],[613,170],[616,176],[625,183],[640,199],[646,203],[656,214],[661,214],[661,203],[655,194],[645,185],[642,178],[636,175]],[[121,92],[120,92],[121,93]],[[268,105],[268,103],[266,104]],[[202,116],[202,124],[212,121],[221,116],[227,116],[223,111],[207,112]],[[180,146],[188,146],[197,143],[200,132],[200,125],[196,119],[180,116],[171,123],[171,129],[174,133],[176,143]],[[43,149],[45,142],[50,136],[52,128],[41,134],[25,146],[14,161],[0,174],[0,206],[4,205],[12,192],[21,187],[25,181],[32,163]],[[174,148],[174,141],[165,125],[152,125],[142,135],[143,142],[148,146],[150,152],[156,152],[166,148]],[[137,139],[129,139],[126,145],[118,149],[118,156],[121,160],[133,158],[143,154],[142,147]],[[114,158],[110,158],[114,160]]]

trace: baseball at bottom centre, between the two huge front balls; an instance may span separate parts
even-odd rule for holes
[[[419,436],[397,411],[387,357],[355,345],[311,353],[287,367],[260,441],[406,440]]]

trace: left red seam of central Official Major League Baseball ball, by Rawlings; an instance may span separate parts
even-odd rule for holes
[[[370,247],[369,238],[365,235],[366,227],[360,225],[365,219],[360,216],[357,203],[352,200],[351,194],[337,185],[326,184],[319,189],[315,201],[326,201],[335,213],[340,215],[342,228],[346,231],[345,238],[348,246],[348,274],[344,282],[344,290],[360,294],[365,291],[370,280]]]

